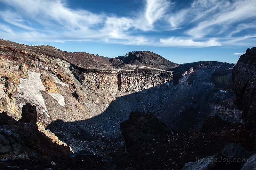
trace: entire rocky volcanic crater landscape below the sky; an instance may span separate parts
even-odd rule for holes
[[[230,158],[231,146],[254,153],[255,50],[237,64],[176,64],[150,51],[107,58],[0,39],[1,167],[247,166],[186,163]]]

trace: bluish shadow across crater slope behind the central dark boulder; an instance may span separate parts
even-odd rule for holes
[[[190,70],[191,73],[188,72],[187,75],[177,80],[117,97],[98,116],[75,122],[57,120],[47,128],[63,142],[70,144],[74,151],[89,150],[96,153],[106,153],[124,144],[120,122],[127,120],[131,111],[146,112],[148,109],[173,132],[200,130],[204,119],[216,111],[211,104],[218,105],[218,107],[226,104],[224,107],[234,109],[234,105],[231,104],[230,107],[227,102],[225,103],[227,99],[230,99],[232,103],[232,98],[234,98],[229,85],[225,87],[227,91],[221,94],[219,89],[215,88],[218,81],[215,81],[216,85],[212,82],[212,75],[216,73],[216,65],[221,65],[224,71],[227,70],[224,68],[226,67],[224,63],[210,63],[208,68],[205,68],[204,63],[204,68],[194,68]],[[228,66],[230,67],[230,64]],[[183,67],[187,69],[186,66]],[[180,70],[182,72],[184,69],[180,68]],[[231,69],[225,75],[231,76]],[[177,74],[177,77],[179,76]],[[209,102],[212,103],[209,104]]]

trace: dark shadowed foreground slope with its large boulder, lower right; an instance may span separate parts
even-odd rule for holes
[[[120,125],[127,147],[109,152],[107,156],[113,158],[118,169],[181,169],[185,163],[198,159],[202,159],[202,164],[190,163],[187,169],[240,169],[241,161],[231,161],[245,158],[244,155],[248,157],[250,152],[245,149],[252,151],[254,142],[242,123],[235,123],[235,131],[223,130],[219,125],[214,127],[220,129],[218,132],[166,134],[165,126],[150,113],[132,112],[129,120]],[[223,150],[227,142],[241,146],[229,144]],[[203,159],[205,157],[208,158]]]

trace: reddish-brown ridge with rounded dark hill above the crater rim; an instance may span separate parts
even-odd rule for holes
[[[146,66],[144,67],[145,69],[155,69],[155,67],[151,67],[151,65],[152,66],[165,65],[165,66],[171,66],[171,67],[179,66],[179,64],[172,63],[171,61],[165,59],[164,57],[157,55],[155,53],[152,53],[150,51],[137,51],[137,52],[126,53],[126,55],[124,56],[108,58],[108,57],[103,57],[99,55],[89,54],[86,52],[74,52],[74,53],[66,52],[49,45],[47,46],[23,45],[23,44],[18,44],[12,41],[6,41],[3,39],[0,39],[0,45],[9,46],[13,48],[15,47],[20,48],[20,52],[22,52],[22,49],[24,50],[25,48],[29,50],[37,51],[45,55],[50,55],[53,57],[63,59],[81,68],[95,69],[95,67],[96,68],[98,67],[99,69],[125,70],[126,67],[122,67],[122,64]],[[131,66],[131,68],[135,69],[137,67]],[[164,70],[167,70],[167,69],[164,69]]]

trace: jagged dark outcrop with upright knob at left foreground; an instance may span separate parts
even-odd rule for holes
[[[35,159],[33,155],[38,155],[40,159],[51,159],[53,156],[72,153],[69,146],[53,143],[52,139],[40,132],[36,121],[36,107],[30,103],[22,107],[22,117],[19,121],[8,116],[6,112],[1,113],[1,156],[22,159],[32,156],[31,159]]]

